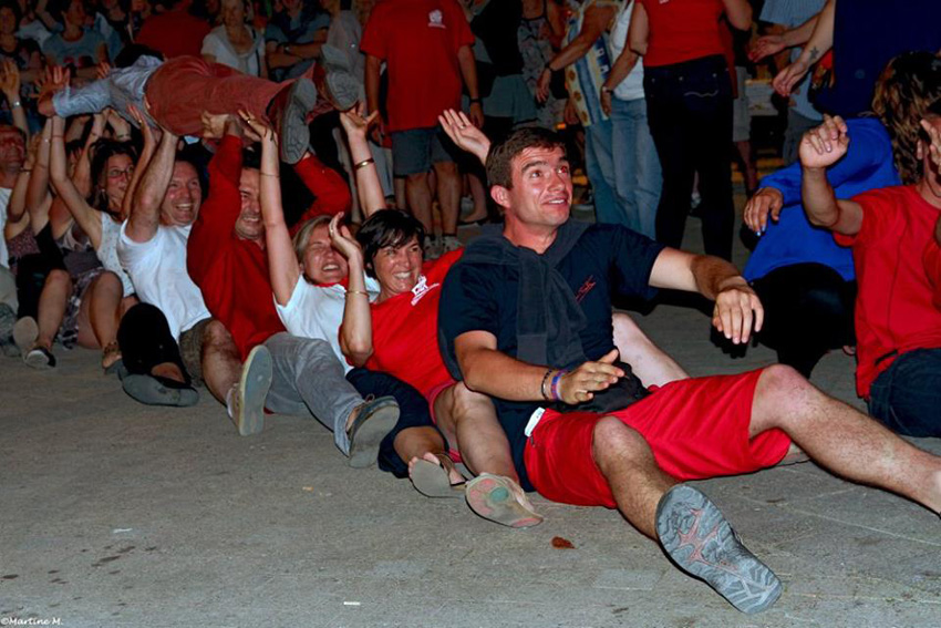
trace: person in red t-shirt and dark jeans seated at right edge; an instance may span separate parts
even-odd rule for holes
[[[941,100],[923,119],[929,128],[941,130]],[[923,256],[941,212],[941,168],[931,159],[930,137],[922,135],[914,147],[919,176],[913,183],[838,199],[826,168],[846,155],[850,138],[841,117],[825,116],[823,125],[804,134],[799,158],[808,220],[852,248],[859,282],[856,391],[891,430],[939,436],[941,311]]]

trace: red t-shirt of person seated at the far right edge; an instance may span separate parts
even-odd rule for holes
[[[941,347],[941,311],[933,303],[924,271],[941,209],[914,186],[873,189],[854,196],[862,206],[856,236],[834,235],[852,247],[859,292],[856,297],[856,391],[869,397],[876,378],[899,353]]]

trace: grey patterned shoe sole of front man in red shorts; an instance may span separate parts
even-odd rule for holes
[[[687,574],[714,588],[746,614],[761,612],[780,597],[782,584],[748,552],[709,497],[686,484],[668,491],[656,506],[656,535]]]

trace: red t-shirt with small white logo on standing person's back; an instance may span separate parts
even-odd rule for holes
[[[457,50],[474,34],[456,0],[385,0],[372,10],[360,50],[384,59],[389,72],[389,131],[437,126],[461,109]]]

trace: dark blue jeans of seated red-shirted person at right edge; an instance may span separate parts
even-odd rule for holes
[[[907,436],[941,436],[941,349],[902,353],[869,389],[869,413]]]

